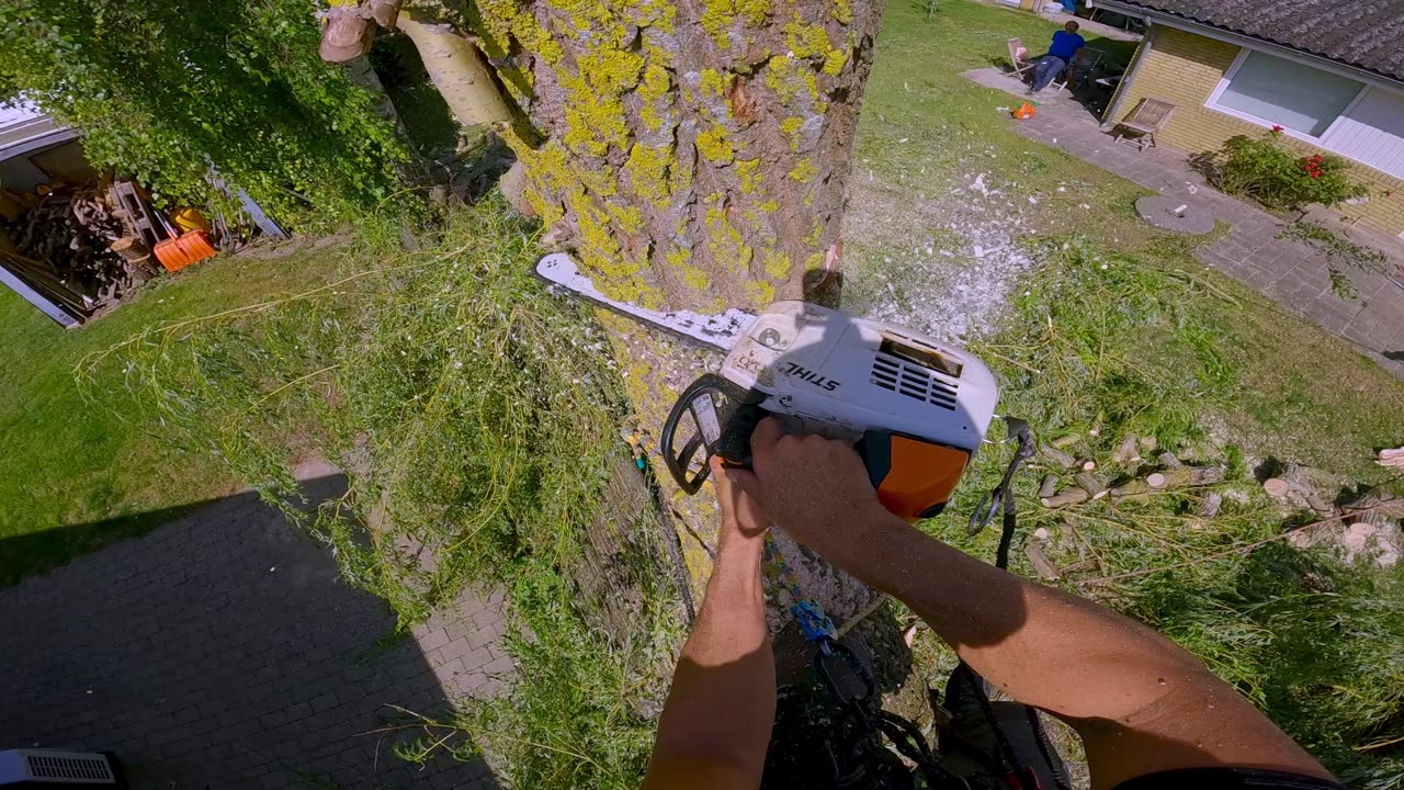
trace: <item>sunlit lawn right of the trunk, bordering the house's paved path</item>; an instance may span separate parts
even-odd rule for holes
[[[991,187],[1007,190],[1016,201],[1039,195],[1036,207],[1025,207],[1038,232],[1014,232],[1026,242],[1075,239],[1095,250],[1134,256],[1137,264],[1161,271],[1193,273],[1213,283],[1219,294],[1231,295],[1226,301],[1199,288],[1192,302],[1213,333],[1224,380],[1231,381],[1221,398],[1200,401],[1195,409],[1213,412],[1247,453],[1325,467],[1362,482],[1384,479],[1387,475],[1372,464],[1373,450],[1404,440],[1397,419],[1404,413],[1404,382],[1345,342],[1206,270],[1192,254],[1205,238],[1165,236],[1136,218],[1133,202],[1146,190],[1019,136],[1008,114],[998,110],[1015,104],[1015,97],[960,76],[1002,62],[1009,37],[1021,37],[1036,51],[1054,30],[1057,25],[1033,14],[969,0],[943,1],[929,20],[910,3],[887,7],[863,97],[854,190],[862,193],[863,180],[876,179],[878,186],[868,191],[887,195],[879,200],[890,198],[893,205],[883,205],[883,211],[901,215],[903,222],[878,243],[854,245],[848,259],[858,284],[855,297],[862,299],[865,278],[892,281],[900,290],[910,271],[894,267],[911,257],[913,246],[949,235],[929,216],[910,212],[913,193],[938,200],[983,171]],[[1112,60],[1125,62],[1134,49],[1133,42],[1095,34],[1087,38]],[[1038,280],[1028,287],[1038,301]],[[1172,346],[1151,320],[1132,329],[1102,342],[1146,358]],[[1024,330],[1011,326],[1005,340],[1021,342]]]

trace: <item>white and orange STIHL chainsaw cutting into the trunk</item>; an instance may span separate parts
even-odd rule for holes
[[[605,297],[563,253],[543,257],[536,274],[726,354],[720,373],[694,381],[663,426],[658,450],[689,495],[702,488],[713,455],[750,468],[751,432],[776,416],[789,433],[849,441],[887,510],[907,520],[931,517],[945,507],[994,417],[998,388],[984,363],[900,326],[800,301],[774,302],[760,315],[650,311]]]

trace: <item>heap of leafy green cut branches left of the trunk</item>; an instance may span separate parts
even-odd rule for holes
[[[594,630],[563,572],[622,451],[607,342],[529,274],[531,229],[501,202],[453,212],[413,253],[385,240],[397,224],[365,225],[379,238],[331,284],[153,326],[81,374],[125,371],[138,408],[257,485],[403,626],[465,585],[507,590],[521,678],[455,725],[519,786],[619,787],[642,772],[651,728],[633,706],[661,696],[678,627],[656,534],[628,547],[637,634]],[[350,489],[306,514],[288,462],[309,454]]]

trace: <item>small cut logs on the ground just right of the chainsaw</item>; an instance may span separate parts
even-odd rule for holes
[[[1059,467],[1073,474],[1075,485],[1061,488],[1061,475],[1049,474],[1039,485],[1039,503],[1045,507],[1066,507],[1080,502],[1097,500],[1109,496],[1112,502],[1144,502],[1151,495],[1174,491],[1177,488],[1192,488],[1223,482],[1224,467],[1192,467],[1181,462],[1174,453],[1164,451],[1155,455],[1154,462],[1147,464],[1141,453],[1154,453],[1155,440],[1153,437],[1139,439],[1127,436],[1116,447],[1111,462],[1118,470],[1118,477],[1123,479],[1113,488],[1106,488],[1092,472],[1098,464],[1092,458],[1080,458],[1066,448],[1078,443],[1077,436],[1066,436],[1045,444],[1039,448],[1043,460],[1053,467]],[[1205,498],[1202,517],[1213,517],[1219,510],[1220,499],[1210,493]]]

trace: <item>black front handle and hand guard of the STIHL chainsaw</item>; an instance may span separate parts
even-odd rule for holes
[[[767,416],[761,409],[764,394],[731,384],[713,373],[703,374],[678,398],[663,423],[660,453],[668,474],[685,493],[696,493],[706,481],[712,455],[719,455],[729,467],[751,468],[751,432]],[[682,415],[692,415],[696,433],[675,451],[675,439]],[[698,450],[705,450],[701,470],[689,475]]]

